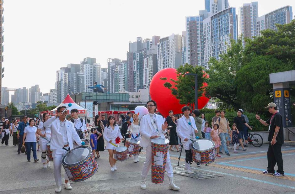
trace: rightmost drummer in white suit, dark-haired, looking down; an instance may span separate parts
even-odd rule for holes
[[[190,116],[190,107],[184,106],[181,111],[184,115],[177,120],[176,132],[181,139],[183,148],[185,149],[185,169],[188,174],[194,174],[194,172],[190,170],[190,165],[193,162],[191,154],[191,139],[194,140],[196,138],[195,133],[198,133],[198,129],[194,118]]]

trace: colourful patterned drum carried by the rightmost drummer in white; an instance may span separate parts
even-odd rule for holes
[[[198,164],[209,164],[216,159],[215,143],[211,139],[196,139],[191,143],[192,159]]]

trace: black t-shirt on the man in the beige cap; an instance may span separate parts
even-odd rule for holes
[[[273,138],[273,135],[275,134],[275,129],[276,126],[280,127],[279,133],[276,136],[276,140],[278,144],[283,144],[284,143],[284,131],[283,131],[283,118],[280,113],[276,113],[275,116],[272,118],[271,117],[266,121],[267,124],[271,123],[271,127],[269,129],[269,134],[268,134],[268,141],[271,141]]]

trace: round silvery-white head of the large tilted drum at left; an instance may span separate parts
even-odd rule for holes
[[[63,158],[62,164],[67,166],[72,166],[80,164],[89,155],[91,155],[91,149],[87,146],[77,147],[70,150]]]

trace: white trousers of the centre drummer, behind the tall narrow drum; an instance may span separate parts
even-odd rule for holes
[[[147,177],[147,173],[150,170],[151,166],[152,166],[152,146],[148,145],[146,147],[146,158],[145,158],[145,161],[142,166],[142,173],[141,173],[142,178]],[[171,162],[170,162],[169,151],[167,151],[167,159],[166,159],[166,167],[165,168],[166,168],[165,170],[167,172],[167,175],[169,177],[173,177],[173,169],[172,169]]]

